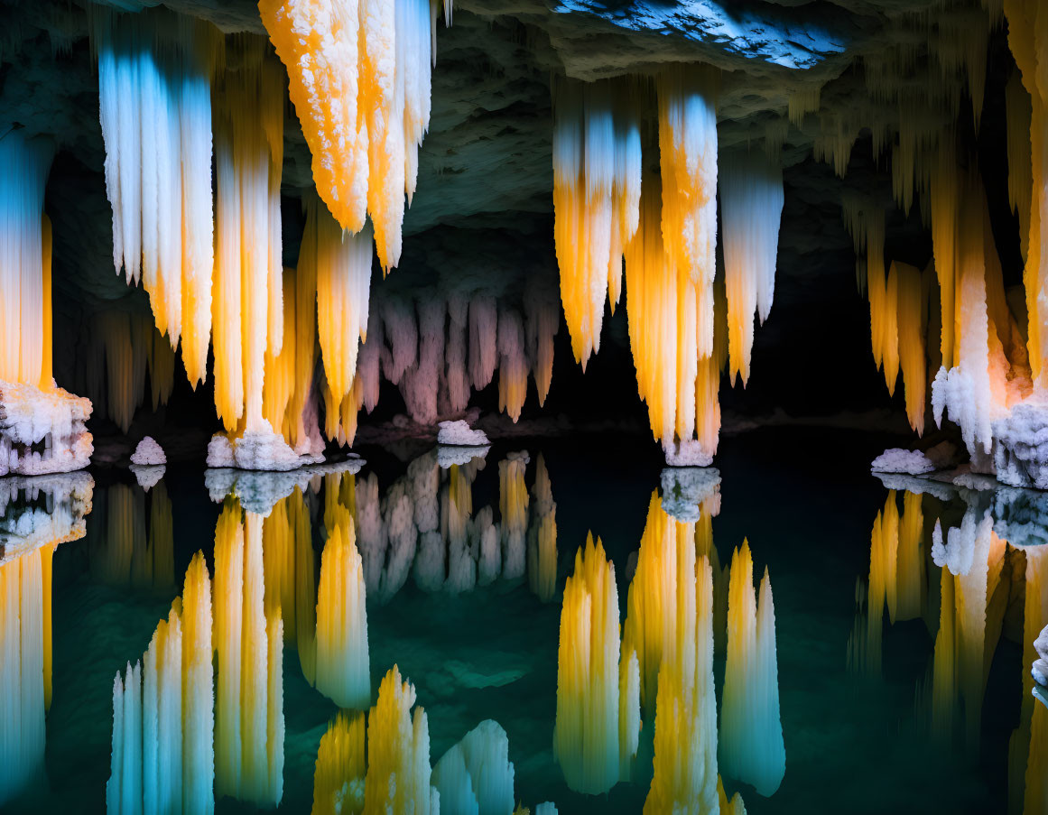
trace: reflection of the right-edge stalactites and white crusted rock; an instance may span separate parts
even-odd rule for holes
[[[1008,749],[1008,811],[1041,815],[1048,812],[1048,709],[1035,704],[1029,665],[1033,640],[1048,624],[1048,546],[1038,510],[1044,497],[910,482],[890,484],[910,487],[901,516],[889,489],[874,521],[866,613],[859,602],[849,664],[879,675],[886,608],[890,624],[922,618],[934,647],[929,682],[917,688],[918,713],[934,739],[959,739],[975,756],[998,644],[1010,632],[1021,636],[1024,693]],[[1013,619],[1020,608],[1021,623]]]

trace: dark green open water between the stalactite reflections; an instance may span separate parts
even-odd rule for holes
[[[722,442],[717,462],[721,507],[713,520],[714,541],[726,564],[732,549],[747,537],[755,572],[765,567],[769,571],[786,748],[785,776],[769,797],[724,777],[728,794],[741,792],[749,813],[816,808],[854,813],[1007,812],[1009,790],[1018,801],[1012,811],[1023,811],[1023,781],[1016,768],[1025,771],[1028,740],[1017,740],[1010,771],[1008,761],[1008,742],[1023,717],[1026,671],[1020,644],[1021,560],[1016,552],[1009,548],[1001,567],[1003,634],[987,637],[978,709],[968,704],[966,710],[955,711],[955,722],[976,723],[974,737],[965,740],[960,725],[953,735],[944,733],[941,726],[933,726],[929,712],[941,576],[931,554],[930,528],[936,513],[947,513],[936,499],[923,501],[920,617],[892,624],[886,613],[880,669],[864,671],[849,664],[853,630],[858,636],[870,631],[864,618],[856,619],[856,582],[865,586],[870,578],[871,527],[889,495],[868,471],[868,462],[885,446],[882,439],[800,431],[758,432]],[[588,530],[603,538],[614,564],[625,618],[631,554],[640,542],[651,493],[659,486],[660,462],[649,445],[624,447],[612,438],[499,443],[473,484],[474,515],[490,506],[499,520],[499,462],[523,449],[530,456],[527,487],[532,486],[541,453],[556,502],[555,596],[543,602],[528,576],[499,578],[457,594],[423,591],[414,572],[396,591],[389,586],[372,591],[369,586],[372,703],[381,677],[395,663],[414,683],[417,702],[428,713],[433,764],[467,730],[495,719],[508,735],[517,800],[532,808],[553,801],[561,813],[640,812],[652,772],[651,722],[641,733],[630,780],[598,796],[572,792],[565,784],[552,751],[558,637],[561,593]],[[386,450],[359,451],[368,463],[356,483],[373,477],[379,495],[387,495],[406,462]],[[420,453],[427,455],[424,448]],[[446,481],[446,470],[442,473]],[[203,550],[214,573],[214,533],[221,507],[209,498],[200,469],[172,466],[165,473],[174,548],[170,557],[163,554],[170,561],[157,566],[154,560],[150,575],[134,578],[131,570],[114,566],[121,555],[107,519],[110,493],[125,489],[144,507],[156,493],[147,498],[126,472],[94,475],[95,509],[87,517],[87,535],[59,545],[53,555],[53,695],[42,771],[15,779],[23,792],[0,803],[4,812],[105,809],[113,676],[141,657],[157,620],[180,593],[195,551]],[[323,489],[313,500],[311,546],[319,570]],[[899,500],[901,507],[901,494]],[[148,511],[143,523],[148,529]],[[143,533],[127,537],[125,548],[146,545]],[[383,593],[390,596],[376,596]],[[963,666],[959,671],[963,674]],[[722,653],[716,655],[715,675],[720,699]],[[291,645],[284,648],[283,681],[286,735],[280,808],[308,812],[318,745],[336,707],[310,687]],[[963,681],[959,677],[958,685]],[[982,687],[978,680],[977,686]],[[955,702],[958,707],[965,704],[959,696],[946,693],[952,707]],[[17,751],[19,746],[6,744],[4,749]],[[216,802],[218,812],[249,809],[227,796]],[[1035,815],[1029,808],[1026,812]]]

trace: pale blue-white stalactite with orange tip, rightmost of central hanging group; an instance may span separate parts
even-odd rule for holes
[[[776,284],[783,175],[763,153],[728,154],[720,173],[724,285],[727,290],[728,355],[733,382],[749,379],[754,313],[761,323],[771,310]]]

